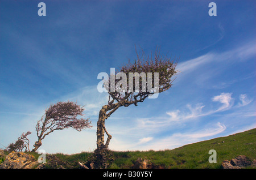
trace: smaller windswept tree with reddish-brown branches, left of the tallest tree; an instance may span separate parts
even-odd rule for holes
[[[42,145],[42,140],[55,130],[72,127],[81,131],[84,128],[92,127],[89,119],[82,118],[84,116],[82,112],[84,112],[84,108],[75,102],[57,102],[50,105],[36,124],[38,141],[35,142],[32,152],[35,152]]]

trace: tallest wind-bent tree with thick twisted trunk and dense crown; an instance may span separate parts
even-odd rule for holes
[[[136,51],[137,53],[137,51]],[[109,93],[108,104],[102,106],[97,122],[97,149],[108,149],[112,135],[106,130],[105,120],[110,117],[121,106],[138,105],[147,97],[154,96],[155,93],[167,91],[172,86],[172,76],[176,72],[177,60],[160,55],[156,48],[155,54],[139,55],[134,63],[123,65],[119,71],[110,72],[108,78],[104,78],[104,88]],[[103,81],[103,80],[102,80]],[[154,88],[152,88],[154,84]],[[145,91],[145,88],[147,90]],[[152,91],[153,90],[153,91]],[[108,138],[104,139],[104,136]]]

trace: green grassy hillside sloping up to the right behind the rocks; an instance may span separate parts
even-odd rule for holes
[[[209,150],[217,152],[217,163],[208,161]],[[75,155],[55,154],[61,160],[77,166],[78,161],[85,162],[89,152]],[[150,160],[154,168],[221,168],[224,160],[231,160],[245,155],[250,160],[256,159],[256,128],[234,135],[184,145],[165,151],[126,151],[113,152],[114,162],[111,168],[132,168],[138,157]],[[73,166],[73,167],[74,167]],[[74,167],[75,168],[75,167]]]

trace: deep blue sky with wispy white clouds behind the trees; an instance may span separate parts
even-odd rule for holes
[[[46,16],[38,16],[38,3]],[[217,16],[209,16],[210,2]],[[46,136],[47,153],[96,148],[97,91],[110,73],[145,53],[179,57],[171,89],[106,121],[110,149],[159,150],[256,127],[255,1],[0,1],[0,148],[58,101],[77,101],[93,127]]]

